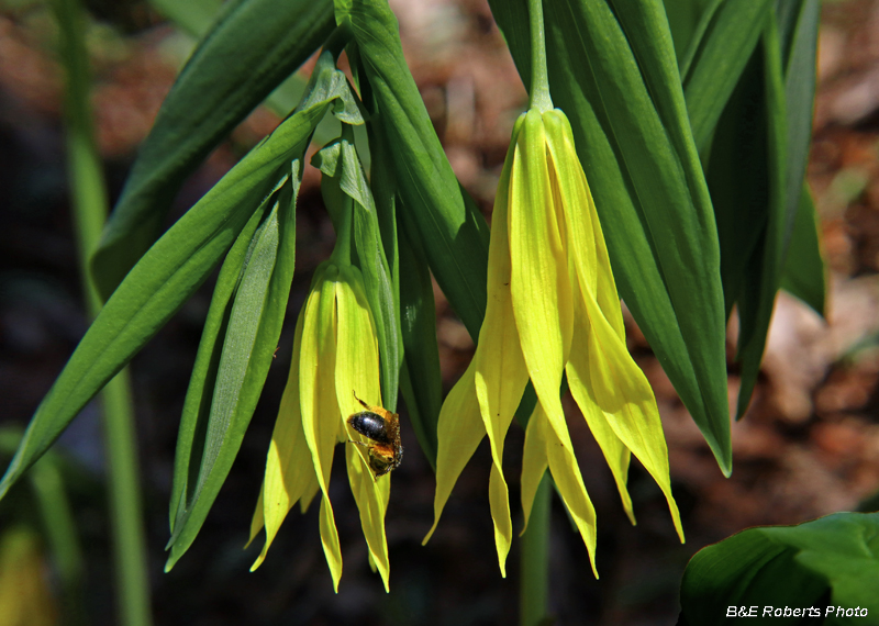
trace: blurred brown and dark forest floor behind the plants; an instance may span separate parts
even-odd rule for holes
[[[137,0],[90,0],[98,143],[115,199],[191,36]],[[392,0],[411,70],[464,186],[490,219],[512,124],[526,94],[486,0]],[[45,3],[0,1],[0,456],[23,427],[87,328],[66,182],[57,29]],[[827,265],[825,317],[781,293],[750,410],[733,425],[734,473],[724,479],[649,346],[626,314],[630,347],[656,392],[687,544],[665,501],[633,463],[637,527],[625,518],[610,471],[576,406],[569,424],[598,513],[597,561],[559,502],[553,508],[550,608],[558,624],[670,625],[688,559],[748,526],[794,524],[844,510],[879,508],[879,1],[826,0],[809,182]],[[255,111],[187,182],[173,220],[279,121]],[[311,272],[334,241],[310,168],[297,214],[297,275],[288,324],[241,454],[200,536],[169,573],[168,499],[179,416],[210,302],[209,281],[132,364],[149,580],[159,625],[511,624],[516,619],[519,545],[501,579],[488,507],[490,458],[479,448],[431,543],[434,478],[402,410],[405,462],[393,473],[387,516],[391,593],[370,572],[341,463],[331,495],[344,573],[333,593],[316,506],[291,512],[255,573],[259,545],[243,550],[289,368],[296,315]],[[169,222],[170,223],[170,222]],[[436,290],[446,390],[474,346]],[[735,323],[727,337],[730,396],[737,394]],[[55,450],[85,554],[86,624],[116,622],[99,406],[90,405]],[[507,446],[511,500],[519,502],[520,428]],[[46,549],[38,499],[25,481],[0,502],[0,625],[57,623],[57,558]],[[518,506],[514,506],[514,508]],[[514,519],[521,527],[521,516]],[[260,544],[257,539],[255,544]],[[15,621],[11,578],[30,577],[41,608]],[[42,581],[42,582],[41,582]],[[43,585],[46,583],[48,586]]]

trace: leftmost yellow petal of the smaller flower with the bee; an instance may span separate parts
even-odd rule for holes
[[[268,548],[287,517],[287,513],[315,479],[314,463],[311,461],[305,443],[302,415],[299,409],[299,359],[302,354],[304,318],[303,312],[297,321],[290,376],[281,396],[280,410],[275,421],[271,444],[266,457],[266,474],[260,492],[266,544],[251,571],[265,560]]]

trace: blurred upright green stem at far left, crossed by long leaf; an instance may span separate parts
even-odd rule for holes
[[[89,93],[91,78],[85,42],[85,15],[78,0],[54,0],[60,29],[60,58],[66,71],[68,180],[77,232],[79,269],[88,310],[96,316],[101,301],[89,272],[89,259],[98,246],[107,220],[107,186],[94,145]],[[137,478],[137,446],[127,370],[111,380],[101,394],[104,420],[107,476],[113,552],[119,588],[120,624],[149,626],[146,540]]]

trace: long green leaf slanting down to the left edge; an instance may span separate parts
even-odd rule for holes
[[[107,302],[31,418],[0,498],[199,288],[331,107],[360,120],[345,75],[325,54],[300,109],[180,217]]]

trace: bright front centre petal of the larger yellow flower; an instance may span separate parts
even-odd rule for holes
[[[516,138],[510,177],[511,290],[522,354],[550,422],[564,428],[559,400],[570,351],[574,306],[565,225],[550,183],[541,114],[528,111]]]

